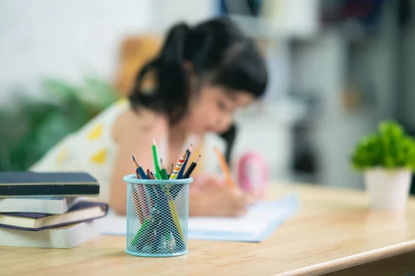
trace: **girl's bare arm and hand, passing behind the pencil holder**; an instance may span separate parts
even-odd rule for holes
[[[113,164],[109,206],[118,215],[125,215],[127,184],[122,177],[136,171],[131,155],[144,168],[152,168],[151,135],[162,141],[167,138],[167,127],[163,120],[154,120],[149,127],[147,119],[137,121],[136,117],[127,114],[117,119],[113,132],[116,132],[118,152]],[[190,186],[190,215],[240,215],[246,212],[246,206],[255,201],[250,195],[221,182],[214,176],[194,177],[194,183]]]

